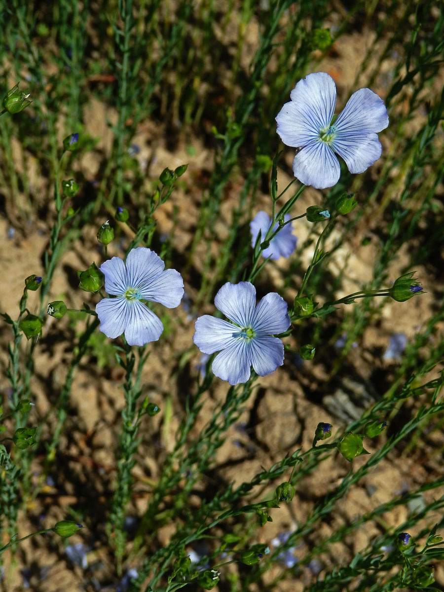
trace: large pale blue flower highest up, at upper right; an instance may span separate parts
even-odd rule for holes
[[[336,121],[336,86],[326,72],[308,74],[290,96],[276,117],[277,131],[284,144],[298,148],[293,172],[304,185],[324,189],[337,183],[340,166],[335,153],[350,173],[364,172],[381,156],[377,133],[388,126],[388,115],[382,99],[370,89],[354,92]]]

